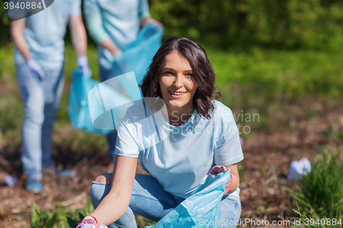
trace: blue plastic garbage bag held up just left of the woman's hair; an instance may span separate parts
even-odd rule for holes
[[[133,71],[136,76],[136,84],[140,84],[152,62],[152,58],[161,47],[162,36],[163,27],[154,24],[143,27],[139,31],[137,39],[123,50],[122,55],[114,60],[113,72],[115,75]],[[130,92],[129,88],[133,82],[125,80],[121,81],[121,84]]]

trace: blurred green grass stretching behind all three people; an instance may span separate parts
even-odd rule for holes
[[[342,100],[342,51],[279,51],[252,49],[249,52],[226,52],[205,47],[217,74],[217,88],[228,107],[241,109],[244,114],[259,114],[252,123],[268,130],[268,107],[278,103],[276,109],[287,112],[287,102],[304,96],[326,95],[335,101]],[[88,47],[88,58],[93,78],[99,79],[96,47]],[[71,45],[66,45],[64,75],[66,86],[71,83],[71,72],[76,66],[76,55]],[[20,95],[16,89],[13,50],[10,45],[0,49],[0,121],[1,138],[19,137],[22,113]],[[69,92],[64,91],[58,121],[61,128],[69,125]],[[280,102],[281,101],[281,102]],[[285,105],[283,103],[286,102]],[[237,113],[239,114],[239,113]],[[237,119],[238,123],[246,122]],[[93,143],[95,141],[91,141]]]

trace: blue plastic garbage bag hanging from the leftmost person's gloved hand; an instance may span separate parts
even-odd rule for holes
[[[97,134],[108,134],[110,129],[97,129],[93,126],[88,107],[88,92],[100,81],[83,75],[80,68],[73,71],[69,95],[69,118],[73,127]]]

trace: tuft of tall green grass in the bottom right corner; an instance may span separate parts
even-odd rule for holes
[[[291,196],[298,202],[298,214],[330,218],[343,211],[343,161],[340,150],[324,150],[317,162],[298,182]]]

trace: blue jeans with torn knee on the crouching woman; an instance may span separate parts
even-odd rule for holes
[[[106,197],[110,191],[110,185],[93,181],[91,187],[91,201],[94,208]],[[134,179],[130,204],[126,213],[115,223],[108,225],[114,227],[137,227],[134,213],[140,214],[150,220],[158,221],[171,212],[184,199],[175,197],[163,190],[162,186],[150,175],[137,174]],[[220,203],[220,220],[228,222],[220,223],[220,227],[236,227],[230,225],[230,220],[238,221],[241,215],[241,201],[233,201],[227,196]],[[223,219],[224,218],[224,219]]]

